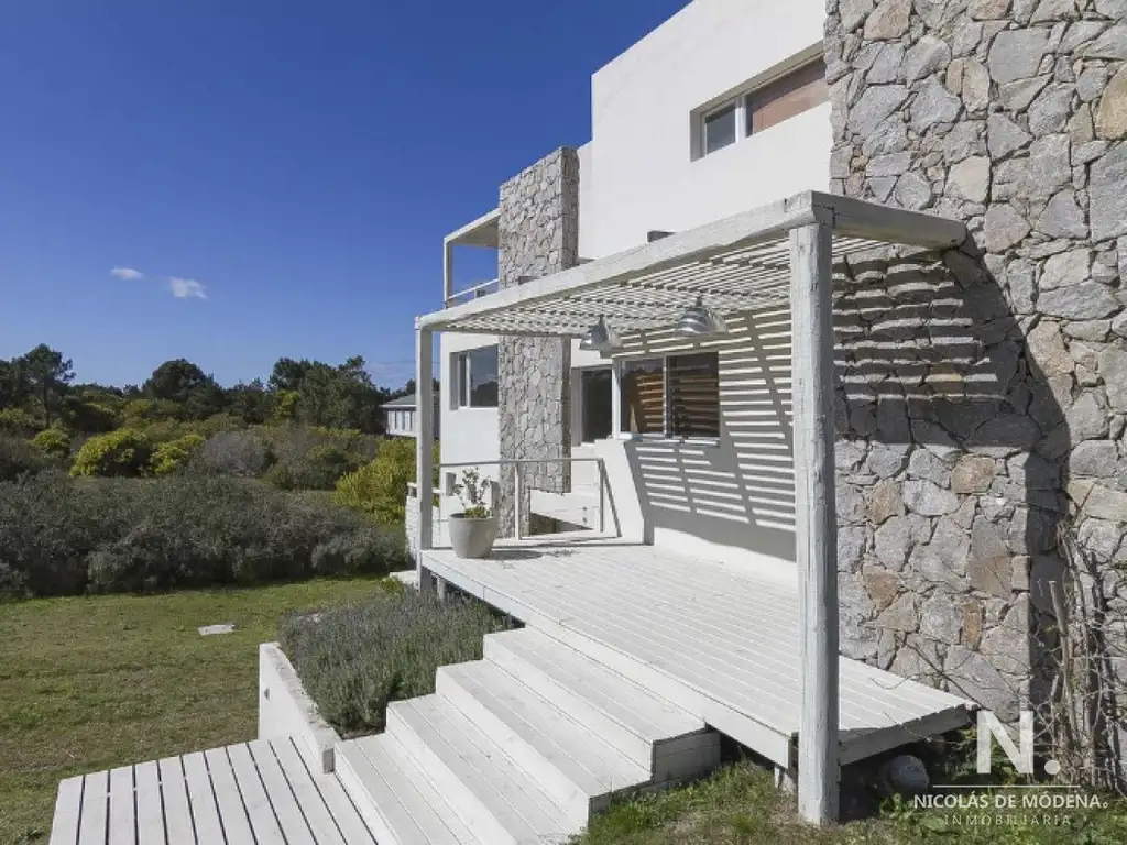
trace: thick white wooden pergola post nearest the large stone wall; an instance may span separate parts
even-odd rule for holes
[[[834,491],[833,230],[790,233],[795,551],[801,616],[798,810],[837,818],[837,513]]]

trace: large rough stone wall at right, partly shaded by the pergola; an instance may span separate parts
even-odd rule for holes
[[[843,649],[1013,717],[1061,527],[1127,612],[1127,0],[827,12],[832,190],[971,232],[838,282]]]

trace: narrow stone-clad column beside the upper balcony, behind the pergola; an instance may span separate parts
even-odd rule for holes
[[[500,287],[518,285],[579,263],[579,158],[561,148],[500,187]],[[498,430],[502,459],[565,457],[571,448],[571,346],[560,338],[505,337],[498,348]],[[502,468],[502,532],[512,532],[515,471]],[[566,492],[568,464],[523,469],[531,488]],[[527,531],[527,518],[525,526]]]

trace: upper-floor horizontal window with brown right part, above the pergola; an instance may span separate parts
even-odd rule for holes
[[[695,154],[709,155],[828,101],[826,65],[816,59],[701,112]]]

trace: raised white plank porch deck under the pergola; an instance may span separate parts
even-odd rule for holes
[[[780,766],[801,708],[798,586],[651,545],[506,543],[489,560],[423,552],[434,575],[595,658]],[[959,728],[973,705],[841,660],[841,762]]]

